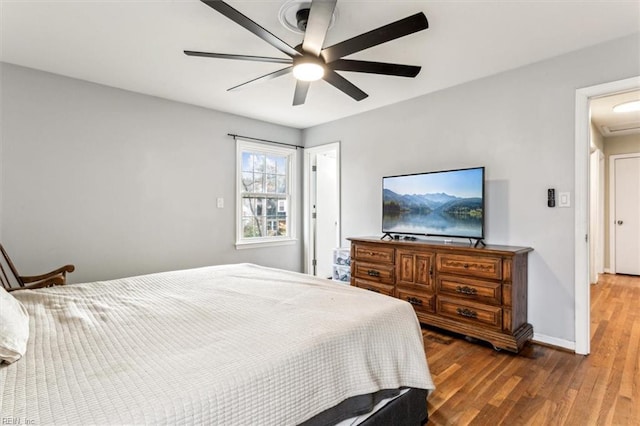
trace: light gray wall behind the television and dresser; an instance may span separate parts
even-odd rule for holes
[[[529,321],[574,342],[574,208],[547,188],[574,194],[576,89],[640,75],[639,52],[636,34],[306,129],[341,141],[343,236],[381,235],[382,176],[485,166],[486,241],[534,248]]]

